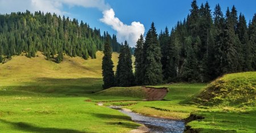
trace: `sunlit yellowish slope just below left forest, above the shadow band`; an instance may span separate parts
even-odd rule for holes
[[[42,78],[102,78],[101,62],[104,54],[98,51],[96,55],[97,59],[88,60],[64,55],[61,63],[47,61],[41,52],[36,53],[35,58],[15,55],[10,61],[0,63],[0,83],[33,82]],[[118,53],[113,53],[112,59],[114,66],[117,66]]]

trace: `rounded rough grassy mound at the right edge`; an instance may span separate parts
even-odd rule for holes
[[[196,102],[204,105],[255,105],[256,72],[227,74],[214,80],[199,94]]]

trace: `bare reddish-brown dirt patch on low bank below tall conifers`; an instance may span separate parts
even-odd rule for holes
[[[156,101],[163,100],[163,98],[168,93],[168,88],[154,88],[154,87],[142,87],[143,91],[146,93],[146,100]]]

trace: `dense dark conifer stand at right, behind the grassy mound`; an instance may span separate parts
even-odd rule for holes
[[[199,7],[193,1],[191,7],[187,18],[177,22],[171,33],[166,28],[158,36],[164,80],[205,82],[223,74],[256,70],[256,14],[247,23],[234,6],[225,15],[220,5],[210,10],[208,2]],[[139,49],[145,48],[147,38],[143,46],[138,42],[135,56],[146,56],[144,61],[148,55]],[[139,67],[147,66],[142,63]]]

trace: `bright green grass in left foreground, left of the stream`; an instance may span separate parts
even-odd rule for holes
[[[18,92],[0,98],[1,132],[127,132],[139,126],[86,97]]]

